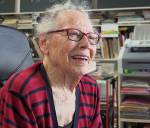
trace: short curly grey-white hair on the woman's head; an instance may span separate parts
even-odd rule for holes
[[[80,5],[74,4],[70,1],[53,5],[51,8],[48,8],[43,17],[41,17],[40,22],[36,26],[36,33],[39,35],[40,33],[45,33],[50,30],[57,29],[56,17],[60,12],[64,10],[81,11],[89,17],[88,12],[85,11],[86,9],[89,9],[89,6],[84,1],[80,3]]]

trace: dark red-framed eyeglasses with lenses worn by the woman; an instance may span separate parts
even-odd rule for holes
[[[55,33],[55,32],[64,32],[64,31],[67,32],[68,39],[71,41],[79,42],[83,38],[83,36],[86,36],[91,45],[96,45],[99,43],[99,40],[100,40],[100,35],[96,32],[84,33],[75,28],[67,28],[67,29],[49,31],[47,32],[47,34]]]

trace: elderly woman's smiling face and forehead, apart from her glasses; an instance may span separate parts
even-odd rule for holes
[[[75,28],[84,33],[93,32],[88,17],[80,11],[63,11],[58,14],[57,21],[58,29]],[[63,31],[48,34],[42,51],[51,68],[71,76],[82,76],[95,56],[96,45],[91,45],[85,35],[78,42],[71,41],[67,32]]]

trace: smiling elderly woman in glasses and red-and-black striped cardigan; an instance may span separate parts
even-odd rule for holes
[[[99,89],[86,75],[100,37],[84,8],[53,6],[37,32],[43,61],[1,89],[0,128],[102,128]]]

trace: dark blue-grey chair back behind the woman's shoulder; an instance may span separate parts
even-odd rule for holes
[[[28,37],[15,28],[0,25],[0,83],[33,63]]]

